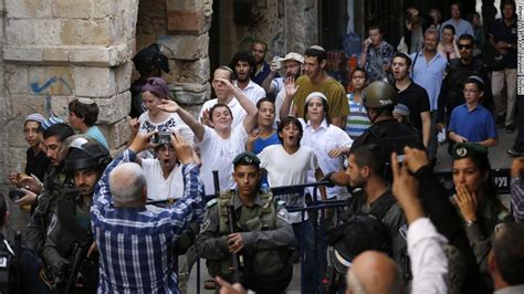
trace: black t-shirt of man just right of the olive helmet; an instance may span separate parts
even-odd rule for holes
[[[408,106],[410,123],[419,130],[422,130],[422,118],[420,118],[420,114],[429,112],[430,109],[429,96],[426,88],[411,81],[411,84],[409,84],[405,91],[398,92],[397,103]]]

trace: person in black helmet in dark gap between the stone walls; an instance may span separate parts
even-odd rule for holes
[[[148,48],[138,51],[133,57],[133,62],[138,73],[140,73],[140,77],[133,82],[129,90],[132,92],[129,115],[135,118],[146,111],[142,105],[142,86],[146,84],[149,77],[160,77],[161,72],[169,73],[169,62],[157,43],[153,43]]]

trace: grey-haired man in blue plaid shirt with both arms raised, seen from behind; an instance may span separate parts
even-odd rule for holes
[[[180,135],[171,135],[171,145],[184,165],[184,196],[166,209],[146,208],[146,179],[134,161],[139,151],[150,147],[155,134],[135,137],[106,168],[93,198],[91,219],[101,256],[101,293],[179,292],[175,241],[202,212],[203,186],[191,147]]]

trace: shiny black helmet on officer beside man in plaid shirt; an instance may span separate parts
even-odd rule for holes
[[[86,136],[75,136],[67,145],[65,170],[105,169],[109,164],[109,151],[97,140]]]

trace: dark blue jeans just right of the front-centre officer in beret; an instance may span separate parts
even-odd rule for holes
[[[303,237],[302,225],[304,225]],[[304,269],[301,273],[301,292],[306,293],[306,291],[308,292],[315,288],[315,279],[317,279],[317,285],[319,285],[319,280],[315,276],[315,243],[313,242],[313,225],[310,220],[293,223],[293,231],[295,233],[296,248],[298,250],[304,250],[303,254],[301,250],[301,269]],[[304,263],[303,266],[302,263]],[[304,281],[304,283],[302,283],[302,281]],[[304,287],[302,288],[302,286]]]

